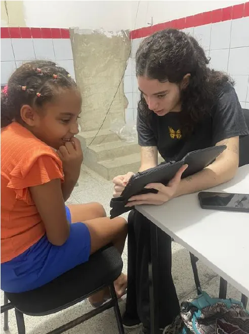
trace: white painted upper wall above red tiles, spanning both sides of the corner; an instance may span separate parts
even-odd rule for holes
[[[244,1],[133,1],[64,0],[23,1],[24,18],[29,27],[101,29],[119,31],[170,21]]]

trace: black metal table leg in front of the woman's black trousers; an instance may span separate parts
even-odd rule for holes
[[[150,297],[150,332],[156,334],[158,325],[158,264],[157,264],[157,226],[150,223],[150,261],[149,261],[149,297]]]

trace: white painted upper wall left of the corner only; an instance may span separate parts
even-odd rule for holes
[[[131,28],[131,1],[23,1],[29,27],[100,29]]]

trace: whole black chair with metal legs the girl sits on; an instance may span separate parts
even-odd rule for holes
[[[109,287],[111,299],[108,302],[47,334],[63,333],[111,307],[114,308],[118,332],[123,334],[121,315],[113,285],[121,274],[122,265],[121,256],[116,248],[107,246],[90,256],[88,262],[76,266],[40,288],[22,293],[5,292],[5,305],[1,307],[1,313],[4,313],[5,317],[4,330],[8,330],[8,311],[13,308],[16,313],[18,334],[25,334],[23,314],[43,316],[57,313]]]

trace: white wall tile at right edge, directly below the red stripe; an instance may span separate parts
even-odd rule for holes
[[[231,48],[249,46],[249,17],[232,21]]]

